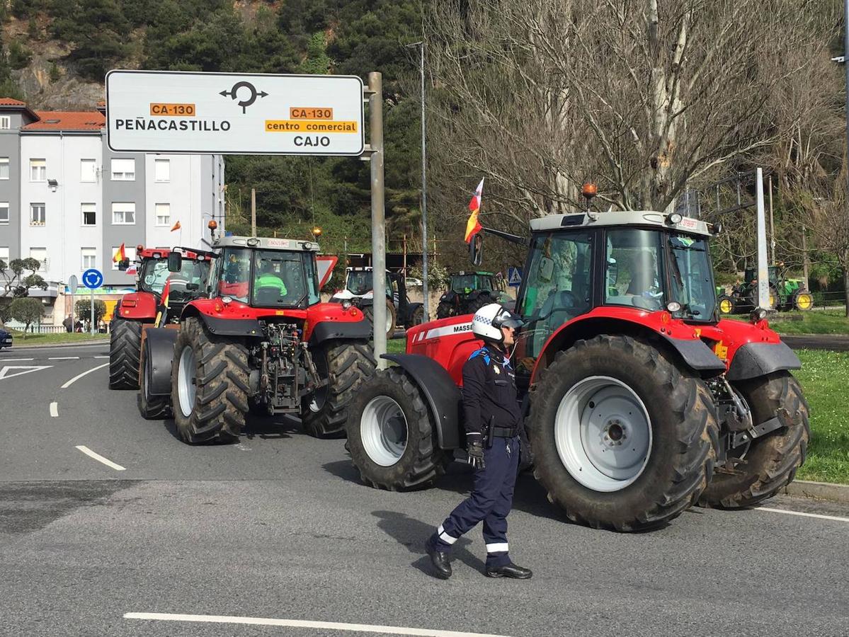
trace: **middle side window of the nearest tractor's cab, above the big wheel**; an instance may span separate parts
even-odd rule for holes
[[[623,228],[607,232],[604,303],[660,310],[666,305],[661,232]]]

